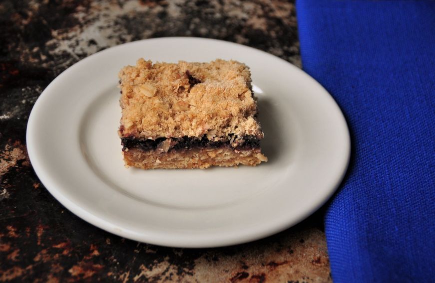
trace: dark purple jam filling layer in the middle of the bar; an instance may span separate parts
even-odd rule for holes
[[[194,137],[182,137],[182,138],[168,138],[172,142],[171,150],[191,149],[191,148],[219,148],[219,147],[232,147],[230,141],[209,141],[206,136],[200,138]],[[140,148],[141,150],[155,150],[157,146],[167,140],[166,138],[158,138],[156,140],[145,140],[135,138],[121,138],[121,144],[124,146],[122,150],[127,148]],[[234,149],[247,150],[260,147],[260,140],[254,136],[244,136],[242,141],[238,142],[238,145]]]

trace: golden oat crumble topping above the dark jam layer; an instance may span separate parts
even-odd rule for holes
[[[152,64],[139,59],[136,66],[122,68],[119,78],[121,138],[263,138],[245,64],[220,59]]]

